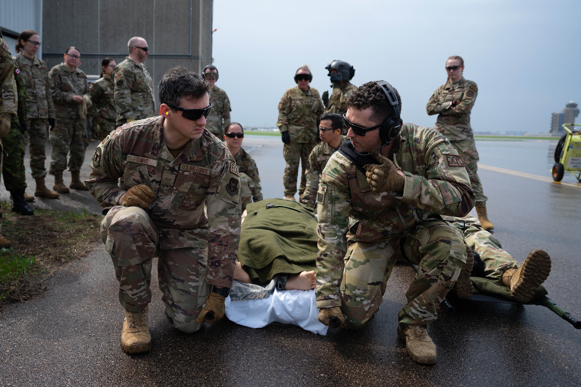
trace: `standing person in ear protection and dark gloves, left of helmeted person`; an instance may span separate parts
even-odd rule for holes
[[[284,198],[290,200],[295,200],[299,162],[302,169],[299,195],[302,195],[307,185],[304,171],[307,169],[309,153],[317,145],[318,118],[324,111],[318,90],[309,85],[311,80],[313,74],[309,66],[303,64],[295,71],[297,86],[288,89],[278,104],[277,126],[285,144],[282,151],[286,161],[282,176],[285,187]]]

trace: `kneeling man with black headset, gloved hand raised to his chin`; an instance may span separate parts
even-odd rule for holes
[[[465,216],[474,193],[456,149],[439,132],[402,124],[401,99],[385,81],[349,97],[345,142],[317,191],[317,307],[325,325],[360,329],[379,309],[393,265],[418,272],[397,333],[410,357],[436,363],[427,324],[467,259],[461,232],[438,214]]]

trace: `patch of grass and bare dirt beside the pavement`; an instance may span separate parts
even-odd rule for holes
[[[2,206],[7,208],[8,203]],[[46,290],[42,281],[56,268],[87,255],[101,239],[101,219],[86,210],[39,208],[33,216],[0,218],[0,233],[12,243],[12,248],[0,249],[0,310],[42,293]]]

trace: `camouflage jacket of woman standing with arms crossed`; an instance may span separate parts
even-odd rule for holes
[[[478,86],[464,77],[456,84],[448,80],[446,84],[437,88],[426,104],[426,112],[430,116],[438,114],[434,129],[450,141],[472,139],[470,112],[476,96]],[[451,107],[452,101],[458,101],[458,105]]]

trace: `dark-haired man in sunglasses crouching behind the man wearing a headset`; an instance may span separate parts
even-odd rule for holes
[[[347,137],[341,135],[343,128],[343,117],[336,113],[321,114],[321,123],[319,124],[319,137],[321,142],[311,150],[309,160],[307,160],[307,187],[303,192],[302,202],[311,207],[317,205],[317,189],[322,170],[325,169],[327,161]]]

